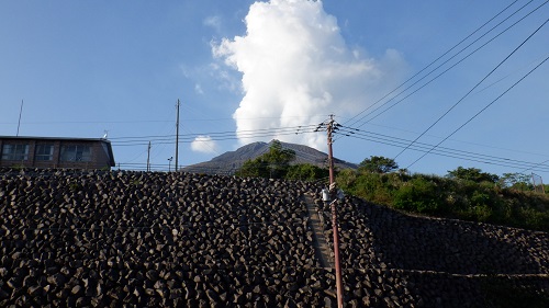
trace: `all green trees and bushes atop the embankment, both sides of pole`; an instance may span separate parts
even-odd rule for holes
[[[238,176],[314,181],[328,170],[290,164],[295,152],[276,141],[265,155],[244,163]],[[448,175],[408,175],[384,157],[365,159],[358,170],[341,170],[336,182],[346,193],[422,215],[549,231],[549,197],[535,193],[525,174],[503,176],[459,167]]]

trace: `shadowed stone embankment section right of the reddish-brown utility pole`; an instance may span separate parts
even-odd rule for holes
[[[384,305],[382,297],[399,305],[490,307],[493,294],[505,289],[544,293],[549,304],[547,232],[415,217],[358,198],[339,203],[338,221],[345,281],[366,284],[357,297],[373,289],[379,296],[370,305]],[[402,294],[414,296],[402,301]]]

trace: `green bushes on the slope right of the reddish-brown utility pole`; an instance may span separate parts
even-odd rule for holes
[[[346,193],[395,209],[549,231],[549,197],[520,190],[527,183],[506,186],[474,168],[460,167],[446,178],[371,170],[343,170],[336,182]]]

